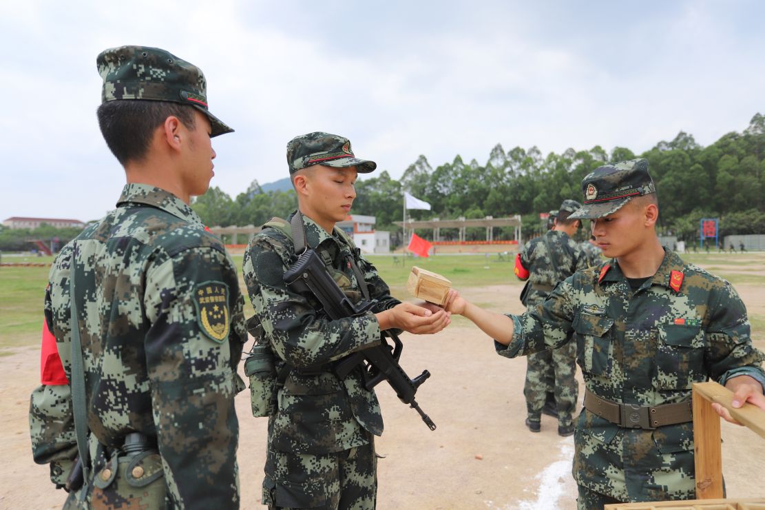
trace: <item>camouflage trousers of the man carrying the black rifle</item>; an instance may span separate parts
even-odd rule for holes
[[[374,440],[337,453],[285,453],[269,449],[262,503],[269,508],[375,508]]]

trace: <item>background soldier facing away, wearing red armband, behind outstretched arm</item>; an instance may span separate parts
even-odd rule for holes
[[[542,237],[526,243],[516,257],[515,273],[521,280],[530,280],[531,289],[526,307],[531,311],[543,302],[555,284],[565,280],[578,270],[587,267],[587,259],[579,245],[571,239],[581,226],[581,221],[568,219],[581,207],[578,201],[565,200],[558,209],[555,225]],[[558,434],[574,433],[572,414],[576,409],[579,386],[575,379],[575,348],[568,343],[554,351],[540,351],[526,358],[526,427],[532,432],[541,430],[542,408],[549,391],[555,394],[555,410],[558,417]],[[548,381],[553,374],[552,384]]]

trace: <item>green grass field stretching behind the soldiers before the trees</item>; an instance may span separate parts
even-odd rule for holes
[[[242,255],[234,255],[238,268]],[[765,284],[765,253],[698,253],[685,254],[685,260],[705,267],[734,285]],[[5,257],[5,262],[50,263],[53,257]],[[480,255],[438,255],[427,259],[416,257],[373,256],[380,275],[391,287],[393,296],[409,299],[405,285],[412,266],[420,266],[446,276],[457,289],[487,285],[517,285],[513,276],[512,258],[496,253]],[[0,356],[13,348],[38,345],[41,334],[44,290],[49,267],[0,267]],[[241,273],[241,270],[239,270]],[[239,284],[246,293],[241,275]],[[480,304],[480,303],[479,303]],[[483,303],[486,304],[486,303]],[[252,315],[249,299],[245,299],[245,315]],[[752,328],[761,336],[765,329],[765,315],[750,311]]]

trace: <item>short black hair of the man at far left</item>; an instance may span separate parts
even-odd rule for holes
[[[194,130],[194,108],[168,101],[116,100],[96,112],[106,145],[122,166],[145,158],[156,129],[169,116]]]

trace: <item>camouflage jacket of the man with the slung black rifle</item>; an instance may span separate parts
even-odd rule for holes
[[[353,257],[364,273],[363,284],[370,297],[377,299],[372,310],[330,320],[313,295],[288,289],[283,276],[297,260],[295,248],[285,234],[273,228],[252,237],[243,273],[252,306],[278,358],[278,369],[288,364],[278,391],[278,411],[269,417],[269,446],[282,452],[332,453],[368,443],[369,433],[382,433],[377,397],[363,387],[358,370],[340,381],[328,367],[314,375],[301,374],[301,368],[326,365],[379,342],[379,322],[373,313],[399,301],[390,296],[375,267],[358,250],[353,253],[340,234],[327,234],[306,216],[303,222],[306,244],[321,253],[327,270],[355,303],[363,298],[348,263]]]

